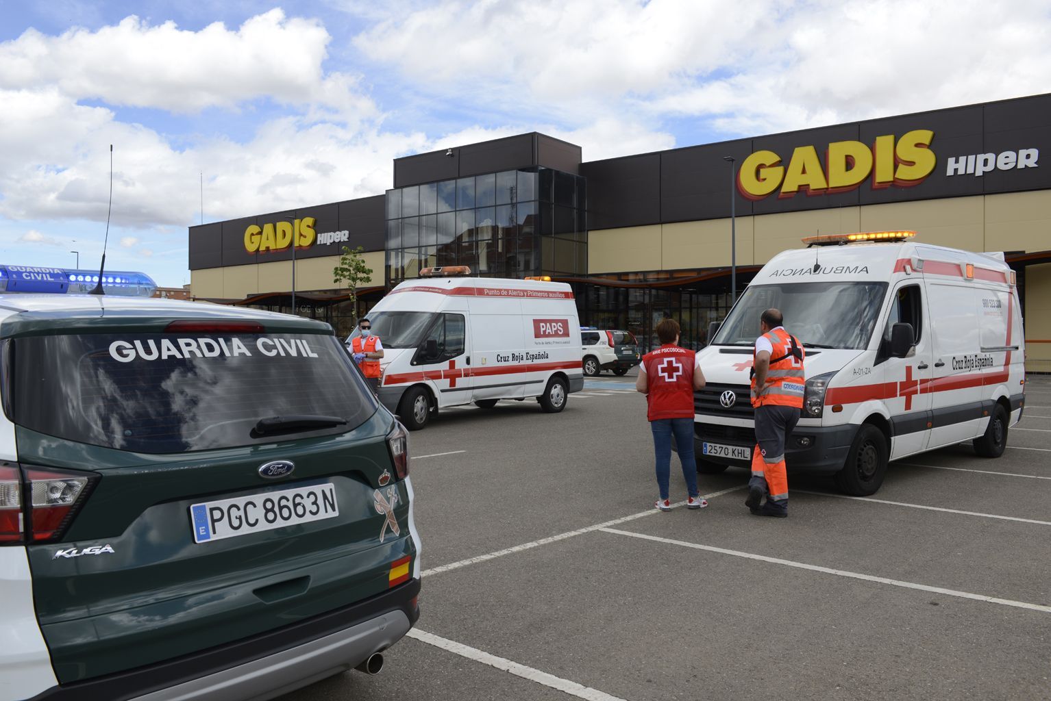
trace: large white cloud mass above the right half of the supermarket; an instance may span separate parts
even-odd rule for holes
[[[575,129],[627,114],[760,135],[1047,91],[1051,13],[1040,0],[442,0],[389,13],[355,45],[434,95],[542,105]]]

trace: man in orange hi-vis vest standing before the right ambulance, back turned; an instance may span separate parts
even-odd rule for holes
[[[784,328],[778,310],[760,317],[762,332],[753,356],[751,405],[756,407],[756,450],[744,501],[757,516],[788,515],[785,445],[803,408],[806,377],[803,346]],[[766,503],[763,504],[763,496]]]

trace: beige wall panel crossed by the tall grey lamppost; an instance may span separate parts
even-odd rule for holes
[[[755,232],[750,216],[737,217],[737,264],[750,265]],[[730,221],[680,221],[661,231],[663,270],[723,268],[730,264]]]

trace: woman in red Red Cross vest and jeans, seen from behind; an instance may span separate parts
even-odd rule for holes
[[[697,488],[697,463],[694,461],[694,390],[704,387],[697,354],[679,347],[679,323],[664,319],[657,324],[657,338],[661,346],[642,357],[635,388],[646,396],[646,418],[654,434],[654,453],[657,458],[657,486],[660,498],[654,504],[661,511],[671,511],[667,494],[668,473],[672,469],[672,434],[682,463],[682,476],[686,480],[687,509],[700,509],[708,503],[702,500]]]

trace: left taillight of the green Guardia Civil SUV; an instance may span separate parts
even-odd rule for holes
[[[59,540],[98,475],[0,466],[0,544]]]

